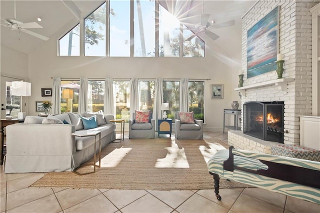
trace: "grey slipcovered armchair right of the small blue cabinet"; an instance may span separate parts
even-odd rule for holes
[[[186,113],[191,116],[189,120],[181,120],[180,114]],[[176,139],[202,139],[203,138],[203,120],[194,119],[192,112],[175,112],[174,113],[174,130]]]

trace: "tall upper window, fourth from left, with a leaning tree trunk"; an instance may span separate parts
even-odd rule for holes
[[[134,0],[134,56],[154,57],[155,1]]]

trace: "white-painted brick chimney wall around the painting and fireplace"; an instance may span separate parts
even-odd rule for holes
[[[277,5],[279,13],[279,53],[283,55],[283,78],[288,82],[287,93],[270,85],[247,89],[241,97],[246,101],[284,101],[284,143],[299,144],[299,117],[311,115],[311,13],[314,1],[261,0],[242,17],[242,70],[246,70],[247,30]],[[275,70],[246,78],[243,86],[276,79]],[[242,119],[243,120],[243,119]],[[242,124],[243,125],[243,124]]]

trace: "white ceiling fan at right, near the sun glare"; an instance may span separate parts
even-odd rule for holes
[[[212,40],[216,40],[219,38],[219,35],[210,31],[210,29],[217,29],[226,26],[234,25],[234,20],[225,21],[222,23],[214,23],[214,20],[209,21],[210,14],[203,13],[203,1],[202,1],[202,14],[201,14],[201,21],[199,24],[195,25],[195,28],[186,28],[191,30],[193,34],[185,39],[185,41],[190,41],[193,37],[197,36],[200,33],[204,33],[209,36]],[[210,23],[211,22],[211,23]]]

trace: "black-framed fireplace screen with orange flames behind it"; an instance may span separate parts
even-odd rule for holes
[[[283,143],[284,102],[256,102],[243,104],[243,133],[262,140]]]

